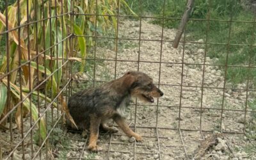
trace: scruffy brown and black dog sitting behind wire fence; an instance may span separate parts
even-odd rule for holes
[[[154,102],[153,97],[161,97],[163,92],[152,83],[152,78],[147,74],[127,72],[119,79],[77,92],[69,98],[68,109],[78,129],[90,130],[88,149],[97,151],[99,127],[108,132],[118,132],[116,127],[107,125],[109,119],[113,119],[125,134],[142,141],[141,136],[125,123],[124,113],[131,96],[145,102]],[[71,125],[70,122],[68,124]]]

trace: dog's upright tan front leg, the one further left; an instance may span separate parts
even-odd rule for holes
[[[88,149],[97,151],[97,140],[99,137],[100,118],[97,116],[90,116],[90,139]]]

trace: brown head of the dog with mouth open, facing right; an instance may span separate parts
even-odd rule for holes
[[[123,77],[132,97],[138,97],[146,102],[154,102],[154,97],[158,98],[164,95],[153,84],[152,78],[143,72],[129,71]]]

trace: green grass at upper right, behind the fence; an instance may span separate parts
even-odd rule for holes
[[[154,14],[155,16],[163,16],[163,1],[140,1],[128,0],[128,4],[132,10],[142,15]],[[243,1],[244,2],[244,1]],[[166,20],[164,26],[167,28],[178,28],[180,19],[186,8],[186,0],[166,0],[164,16],[173,18]],[[143,10],[143,11],[141,11]],[[232,20],[250,21],[246,22],[228,22],[232,14]],[[253,29],[253,13],[246,9],[245,4],[239,0],[224,1],[195,1],[191,19],[186,26],[186,40],[196,42],[200,39],[208,43],[207,55],[210,58],[218,58],[216,64],[225,65],[228,53],[228,65],[246,66],[251,63],[256,64],[256,47],[255,45],[256,26]],[[205,21],[200,19],[214,19],[222,21]],[[161,19],[152,20],[155,24],[161,24]],[[231,25],[231,30],[230,30]],[[230,39],[229,37],[230,32]],[[222,45],[222,44],[234,45]],[[239,45],[236,45],[239,44]],[[251,60],[251,61],[250,61]],[[221,67],[225,71],[225,67]],[[223,72],[225,73],[225,72]],[[250,87],[255,86],[256,70],[243,67],[228,67],[227,79],[234,86],[238,83],[244,83],[250,77]]]

